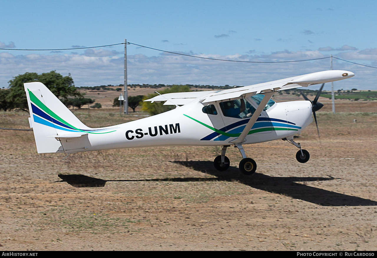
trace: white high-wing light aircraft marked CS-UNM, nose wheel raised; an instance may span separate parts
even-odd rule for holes
[[[227,147],[239,149],[239,170],[251,175],[256,162],[247,158],[242,145],[283,139],[299,150],[297,161],[309,160],[309,152],[293,140],[312,121],[312,113],[322,108],[317,102],[323,84],[354,76],[350,71],[329,70],[272,82],[218,91],[167,93],[150,102],[165,102],[176,108],[162,114],[115,126],[90,128],[83,124],[41,82],[25,83],[30,118],[38,153],[77,153],[155,146],[222,146],[214,160],[225,171],[230,161]],[[305,100],[275,103],[273,94],[281,90],[322,84],[317,96]]]

